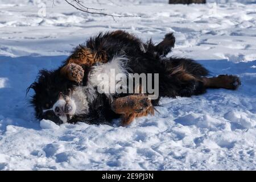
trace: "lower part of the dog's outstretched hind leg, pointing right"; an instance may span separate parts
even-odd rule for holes
[[[234,75],[219,75],[217,77],[202,77],[205,88],[236,90],[240,85],[240,78]]]

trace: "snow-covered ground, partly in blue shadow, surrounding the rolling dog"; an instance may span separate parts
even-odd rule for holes
[[[255,169],[255,1],[86,1],[107,13],[141,16],[115,20],[60,0],[47,1],[41,17],[44,2],[0,1],[0,169]],[[57,68],[89,36],[117,29],[155,42],[174,32],[171,55],[198,60],[212,76],[236,74],[242,86],[162,98],[160,114],[128,127],[36,121],[26,88],[39,69]]]

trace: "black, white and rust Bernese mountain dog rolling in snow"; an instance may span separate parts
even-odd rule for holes
[[[134,118],[154,114],[160,97],[191,97],[205,93],[208,88],[235,90],[241,85],[237,76],[207,77],[207,69],[194,60],[166,57],[174,44],[171,33],[159,44],[152,43],[151,39],[142,42],[121,30],[89,38],[74,49],[61,67],[40,71],[37,80],[27,89],[27,92],[35,91],[30,102],[35,107],[36,118],[55,123],[92,124],[122,118],[125,126]],[[111,76],[112,69],[115,73]],[[134,90],[139,90],[136,93],[101,90],[98,76],[102,73],[110,77],[119,73],[157,74],[158,96],[151,99],[147,92],[142,93],[141,85],[133,85]],[[122,86],[127,84],[122,79],[119,81],[117,84]]]

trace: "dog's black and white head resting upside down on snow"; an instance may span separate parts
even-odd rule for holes
[[[76,104],[72,100],[74,83],[56,71],[40,71],[38,80],[30,89],[35,91],[30,103],[35,107],[36,118],[49,119],[55,123],[67,122],[75,114]]]

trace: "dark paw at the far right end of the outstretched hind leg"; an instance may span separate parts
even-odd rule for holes
[[[236,90],[241,85],[240,78],[235,75],[220,75],[218,78],[224,82],[225,89]]]

